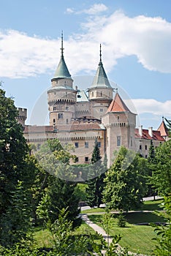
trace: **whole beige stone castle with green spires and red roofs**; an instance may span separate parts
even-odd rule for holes
[[[18,121],[24,127],[24,137],[37,148],[45,140],[58,138],[62,144],[72,144],[77,163],[89,163],[95,138],[102,157],[107,155],[108,167],[113,162],[113,151],[121,146],[139,151],[148,157],[148,149],[168,140],[164,118],[159,129],[136,128],[136,114],[123,102],[118,89],[113,88],[102,64],[100,45],[99,65],[93,83],[86,91],[75,86],[64,61],[63,36],[61,37],[61,59],[47,91],[50,124],[47,126],[26,125],[27,110],[18,108]]]

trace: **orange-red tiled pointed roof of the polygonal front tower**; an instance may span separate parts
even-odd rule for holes
[[[107,112],[130,112],[125,103],[121,99],[118,93],[115,94],[115,99],[110,103]]]

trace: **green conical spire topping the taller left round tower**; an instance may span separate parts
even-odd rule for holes
[[[61,32],[61,59],[58,63],[55,75],[53,78],[71,78],[66,63],[64,61],[64,47],[63,47],[63,31]]]

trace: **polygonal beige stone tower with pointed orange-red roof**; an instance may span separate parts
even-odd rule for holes
[[[135,149],[134,129],[136,114],[132,113],[121,99],[118,91],[111,102],[107,113],[102,117],[102,124],[106,127],[106,154],[108,165],[113,163],[113,152],[121,146]]]

